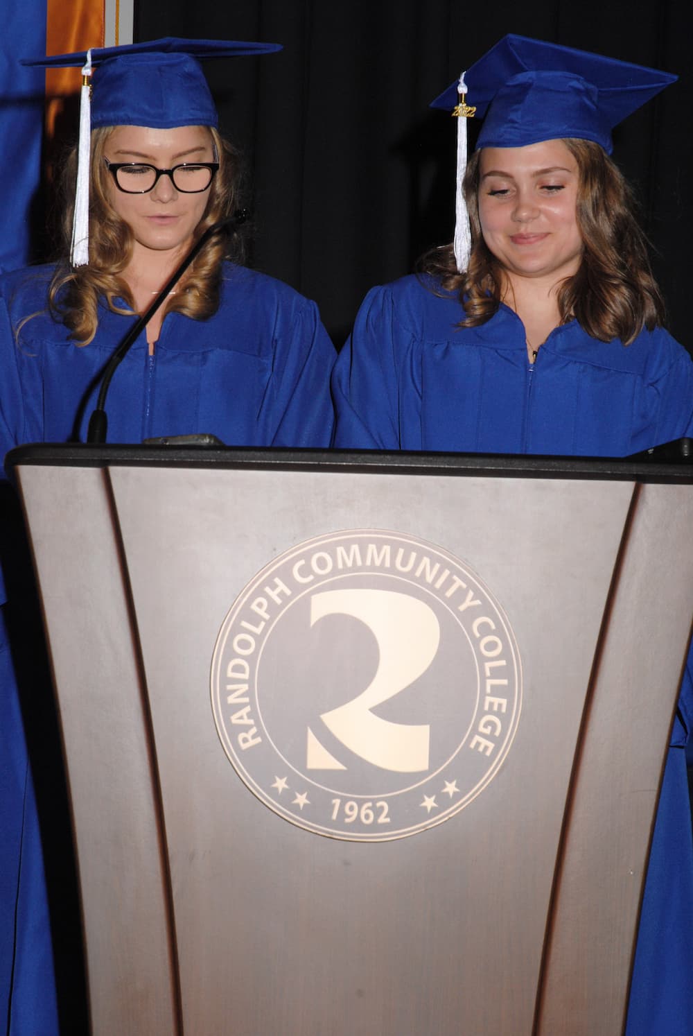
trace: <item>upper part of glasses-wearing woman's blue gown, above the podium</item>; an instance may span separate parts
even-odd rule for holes
[[[84,441],[97,380],[136,318],[99,306],[93,342],[76,345],[46,310],[50,266],[0,279],[0,445]],[[11,328],[36,313],[19,330]],[[208,320],[168,314],[148,355],[141,334],[113,376],[109,442],[211,432],[227,445],[324,447],[335,358],[315,304],[226,263]]]

